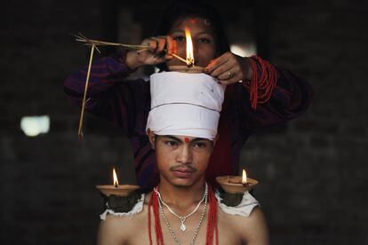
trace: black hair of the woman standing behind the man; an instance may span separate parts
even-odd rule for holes
[[[209,21],[212,26],[213,34],[216,39],[216,55],[220,55],[226,51],[230,51],[228,38],[223,28],[220,12],[218,12],[212,5],[205,4],[193,0],[176,0],[172,1],[163,13],[155,36],[166,36],[172,25],[184,17],[199,17]],[[165,64],[157,66],[160,70],[167,70]]]

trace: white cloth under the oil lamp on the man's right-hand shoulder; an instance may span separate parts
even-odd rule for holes
[[[222,211],[230,215],[249,217],[250,214],[252,213],[252,209],[254,209],[257,206],[260,206],[260,202],[258,202],[249,192],[244,193],[242,202],[240,202],[235,207],[228,207],[227,205],[221,203],[222,198],[220,197],[219,192],[216,192],[215,196],[217,202],[219,203],[220,209],[222,209]]]

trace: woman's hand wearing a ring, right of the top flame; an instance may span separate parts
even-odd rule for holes
[[[224,85],[249,81],[252,78],[252,67],[249,60],[229,51],[212,59],[210,64],[204,68],[204,72],[216,77]]]

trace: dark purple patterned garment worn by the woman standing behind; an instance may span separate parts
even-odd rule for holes
[[[132,143],[138,184],[148,192],[158,183],[156,155],[146,135],[150,110],[149,81],[127,80],[132,73],[124,64],[125,52],[93,62],[86,110],[120,127]],[[219,141],[209,164],[209,180],[237,174],[242,147],[252,133],[285,123],[304,112],[312,98],[306,81],[276,68],[279,78],[267,103],[251,108],[249,91],[243,83],[228,86],[220,115]],[[87,68],[76,71],[64,83],[64,91],[80,107]],[[227,141],[226,141],[227,140]],[[221,150],[219,150],[221,148]],[[219,163],[220,162],[220,163]],[[226,162],[222,163],[221,162]]]

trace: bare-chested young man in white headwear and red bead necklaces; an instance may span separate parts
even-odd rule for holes
[[[134,211],[107,209],[98,244],[268,244],[265,218],[252,195],[227,207],[205,180],[225,86],[210,75],[177,72],[151,75],[150,81],[146,128],[160,181]]]

